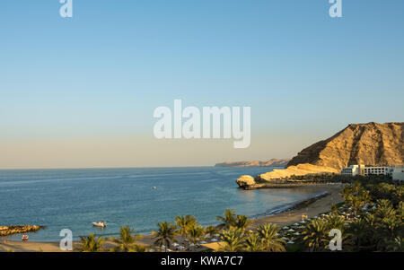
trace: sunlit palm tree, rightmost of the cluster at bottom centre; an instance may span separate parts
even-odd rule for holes
[[[280,228],[276,224],[261,224],[257,228],[259,238],[263,241],[265,249],[269,252],[285,252],[285,240],[280,239],[277,233]]]

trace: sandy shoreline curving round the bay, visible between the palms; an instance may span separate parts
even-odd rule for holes
[[[315,215],[329,212],[330,206],[343,201],[339,195],[340,190],[345,184],[316,184],[307,185],[302,188],[313,189],[313,196],[294,202],[292,205],[280,206],[268,213],[251,216],[252,223],[250,229],[257,228],[262,223],[275,223],[280,227],[291,225],[294,222],[300,222],[302,215],[312,218]],[[287,187],[286,187],[287,188]],[[74,245],[77,242],[74,242]],[[151,234],[144,234],[142,240],[138,240],[139,245],[153,245],[154,240]],[[59,248],[58,242],[26,242],[9,240],[6,244],[0,242],[0,252],[13,249],[15,252],[68,252]]]

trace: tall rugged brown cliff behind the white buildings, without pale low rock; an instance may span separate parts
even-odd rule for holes
[[[351,124],[330,138],[303,149],[287,167],[310,163],[337,170],[353,164],[400,165],[404,162],[404,123]]]

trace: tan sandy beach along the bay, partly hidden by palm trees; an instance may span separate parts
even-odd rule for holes
[[[340,196],[340,191],[343,184],[333,184],[333,185],[311,185],[307,187],[298,188],[308,188],[313,191],[313,194],[320,194],[321,192],[328,192],[329,196],[322,197],[316,200],[311,205],[307,205],[303,208],[297,208],[294,210],[286,211],[285,213],[278,213],[262,217],[253,220],[251,228],[256,228],[261,223],[275,223],[278,226],[285,226],[293,224],[294,222],[299,222],[302,220],[302,215],[307,215],[309,218],[319,215],[320,213],[325,213],[330,210],[330,206],[333,204],[338,204],[343,201],[342,196]],[[142,240],[138,241],[138,244],[150,246],[153,245],[152,235],[144,235]],[[61,252],[59,248],[59,243],[47,243],[47,242],[20,242],[20,241],[7,241],[6,243],[0,243],[0,252],[13,250],[14,252]]]

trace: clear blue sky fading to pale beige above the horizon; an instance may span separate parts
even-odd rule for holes
[[[404,120],[404,1],[0,2],[0,168],[289,158]],[[251,145],[157,140],[154,109],[250,106]]]

